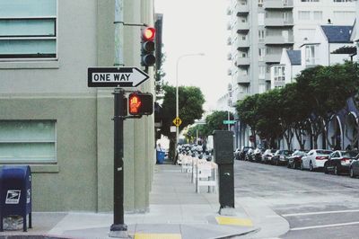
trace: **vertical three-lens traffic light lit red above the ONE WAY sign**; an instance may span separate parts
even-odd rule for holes
[[[154,34],[155,29],[147,27],[142,30],[141,34],[141,65],[153,66],[156,62],[154,57]]]

